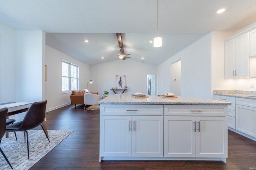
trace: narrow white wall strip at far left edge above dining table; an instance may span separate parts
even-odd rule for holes
[[[0,23],[0,103],[6,102],[16,102],[16,31]]]

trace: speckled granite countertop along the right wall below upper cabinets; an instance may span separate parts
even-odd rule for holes
[[[221,96],[239,97],[239,98],[247,98],[247,99],[255,99],[256,100],[256,92],[255,91],[214,90],[213,94],[221,95]]]

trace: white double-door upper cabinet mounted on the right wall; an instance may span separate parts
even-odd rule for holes
[[[225,78],[249,76],[249,33],[225,42]]]

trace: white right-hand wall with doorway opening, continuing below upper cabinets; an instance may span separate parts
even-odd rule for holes
[[[160,64],[157,67],[159,94],[171,91],[168,70],[171,63],[180,59],[182,96],[213,98],[213,90],[255,91],[256,78],[224,78],[224,40],[234,34],[213,31]]]

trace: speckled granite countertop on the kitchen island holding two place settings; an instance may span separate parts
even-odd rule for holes
[[[160,98],[149,96],[148,98],[133,98],[131,96],[108,96],[98,102],[99,104],[179,104],[179,105],[228,105],[229,102],[197,98],[191,96],[178,96],[178,98]]]

